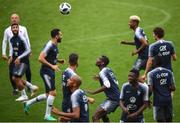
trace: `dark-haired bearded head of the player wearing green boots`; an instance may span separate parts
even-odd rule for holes
[[[51,38],[56,39],[56,41],[60,43],[62,39],[62,32],[60,29],[54,28],[51,30]]]

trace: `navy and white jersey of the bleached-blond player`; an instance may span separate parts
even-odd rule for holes
[[[144,30],[140,27],[137,27],[135,30],[135,36],[134,36],[136,49],[141,47],[142,43],[141,43],[140,39],[142,39],[142,38],[144,38],[147,41],[147,37],[146,37],[146,34],[144,33]],[[149,49],[149,46],[146,46],[144,49],[142,49],[138,53],[138,58],[147,59],[148,58],[148,49]]]

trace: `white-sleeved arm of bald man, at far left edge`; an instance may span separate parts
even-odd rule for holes
[[[2,58],[4,60],[8,60],[8,57],[6,56],[6,47],[7,47],[7,32],[6,30],[4,31],[4,37],[3,37],[3,41],[2,41]]]

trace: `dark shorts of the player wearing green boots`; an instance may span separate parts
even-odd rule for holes
[[[55,72],[49,69],[42,69],[40,70],[40,75],[44,81],[46,93],[50,91],[54,91],[55,88]]]

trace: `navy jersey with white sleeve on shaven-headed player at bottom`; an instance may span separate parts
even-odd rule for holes
[[[81,89],[75,90],[71,95],[72,108],[80,108],[80,118],[75,122],[89,122],[89,105],[85,92]]]

